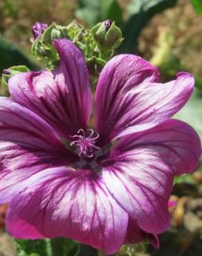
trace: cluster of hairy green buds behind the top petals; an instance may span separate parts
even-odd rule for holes
[[[33,42],[32,52],[39,60],[46,60],[46,67],[57,65],[59,56],[53,47],[53,40],[67,38],[74,42],[84,54],[84,58],[92,75],[98,73],[111,58],[114,49],[122,42],[121,30],[109,20],[103,21],[91,30],[86,30],[77,21],[68,26],[51,24],[42,35]]]

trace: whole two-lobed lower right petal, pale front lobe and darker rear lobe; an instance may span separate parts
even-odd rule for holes
[[[169,225],[168,201],[174,175],[199,163],[201,143],[178,120],[122,137],[112,149],[103,178],[108,190],[140,229],[158,234]],[[110,164],[111,163],[111,164]]]

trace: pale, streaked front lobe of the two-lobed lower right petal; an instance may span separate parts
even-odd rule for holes
[[[139,228],[158,234],[169,226],[167,203],[172,191],[172,170],[149,150],[134,149],[118,157],[102,173],[114,199]]]

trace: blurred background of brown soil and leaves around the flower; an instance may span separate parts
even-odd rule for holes
[[[179,71],[192,73],[196,89],[176,118],[190,123],[202,138],[201,0],[0,0],[0,75],[20,64],[42,67],[30,53],[30,27],[36,21],[66,26],[73,19],[86,28],[104,19],[116,21],[125,37],[116,54],[149,60],[160,69],[162,82]],[[0,93],[8,95],[2,86]],[[202,256],[202,167],[176,179],[172,194],[177,204],[170,209],[171,227],[160,235],[160,249],[131,246],[117,255]],[[6,208],[0,206],[0,255],[14,256],[15,246],[3,231]]]

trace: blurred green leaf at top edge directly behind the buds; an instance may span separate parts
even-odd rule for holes
[[[79,7],[75,12],[91,28],[100,21],[111,19],[118,26],[122,24],[122,10],[117,0],[78,0]]]

